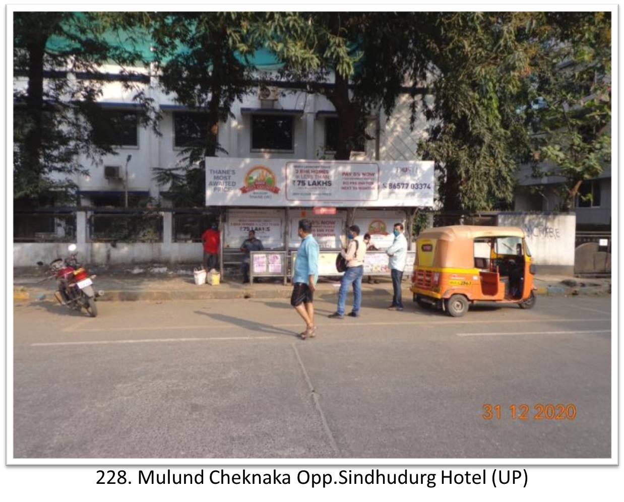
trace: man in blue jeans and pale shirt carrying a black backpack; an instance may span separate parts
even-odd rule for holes
[[[350,317],[358,317],[362,304],[362,276],[364,275],[364,256],[366,256],[366,244],[359,234],[359,226],[351,225],[348,231],[349,244],[340,252],[346,261],[346,271],[340,281],[338,291],[338,310],[329,314],[331,319],[344,319],[344,304],[347,299],[349,286],[353,284],[353,310],[347,314]]]

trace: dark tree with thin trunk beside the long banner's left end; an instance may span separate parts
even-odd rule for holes
[[[188,143],[182,163],[156,170],[160,185],[170,184],[177,205],[205,203],[205,157],[225,152],[218,143],[220,122],[248,92],[253,76],[249,56],[258,47],[251,36],[254,14],[180,12],[154,16],[152,39],[160,85],[175,100],[206,114],[205,139]],[[227,152],[226,152],[227,153]]]

